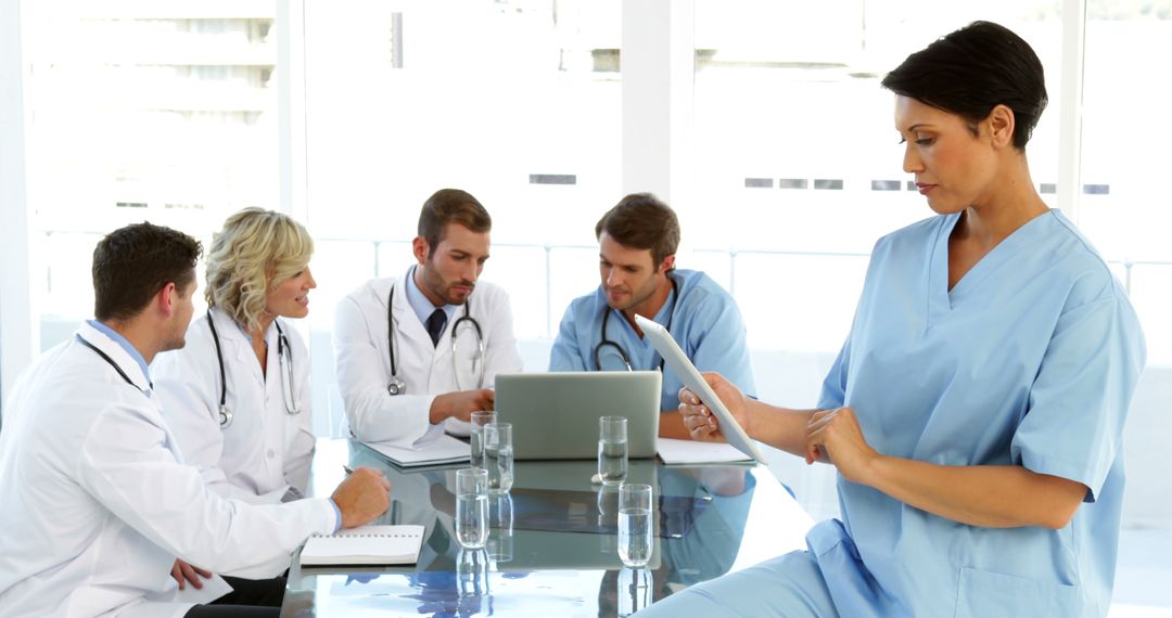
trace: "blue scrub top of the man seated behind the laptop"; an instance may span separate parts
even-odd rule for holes
[[[745,394],[754,397],[757,387],[752,382],[749,365],[749,348],[745,344],[744,322],[736,301],[724,288],[708,275],[697,270],[675,269],[673,291],[654,321],[668,325],[672,336],[700,371],[717,371]],[[679,297],[676,297],[679,294]],[[574,298],[561,318],[558,338],[550,352],[550,371],[597,371],[625,370],[618,352],[609,345],[600,352],[602,366],[594,365],[594,348],[602,341],[602,315],[611,313],[606,323],[606,337],[627,352],[635,370],[654,370],[660,366],[655,348],[635,334],[622,311],[606,303],[606,294],[599,286],[592,294]],[[669,368],[663,368],[663,393],[661,411],[680,406],[680,387],[683,383]]]

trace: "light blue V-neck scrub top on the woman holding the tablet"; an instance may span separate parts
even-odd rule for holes
[[[1105,616],[1123,426],[1146,355],[1139,322],[1058,211],[949,291],[958,220],[934,217],[875,245],[818,406],[853,407],[883,454],[1024,466],[1085,485],[1085,502],[1059,530],[981,528],[839,479],[843,523],[815,527],[810,548],[843,616]]]

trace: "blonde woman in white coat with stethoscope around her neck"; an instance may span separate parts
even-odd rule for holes
[[[285,318],[309,313],[313,240],[288,215],[245,208],[207,254],[209,310],[151,368],[163,416],[209,488],[252,503],[301,496],[313,459],[308,350]],[[288,561],[233,574],[272,577]]]

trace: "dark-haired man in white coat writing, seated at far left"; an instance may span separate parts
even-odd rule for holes
[[[239,570],[387,509],[389,485],[373,469],[331,499],[250,506],[210,492],[183,464],[148,364],[184,344],[199,253],[190,236],[150,224],[102,239],[96,320],[29,368],[5,406],[0,614],[257,616],[240,605],[265,595],[279,605],[281,581],[250,585],[258,597],[192,606],[173,599],[176,557]]]

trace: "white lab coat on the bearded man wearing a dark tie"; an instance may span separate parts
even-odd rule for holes
[[[408,276],[410,269],[408,269]],[[431,344],[427,327],[407,298],[406,277],[375,279],[352,291],[338,305],[334,322],[334,356],[338,387],[346,403],[350,431],[360,440],[410,447],[425,437],[449,431],[466,433],[466,423],[448,420],[431,425],[428,413],[437,394],[492,387],[497,373],[522,370],[520,352],[512,329],[509,295],[498,286],[478,282],[469,296],[469,315],[484,334],[484,383],[476,379],[471,358],[476,353],[475,329],[461,327],[454,372],[451,330],[464,315],[461,307],[448,320],[438,345]],[[407,394],[390,396],[390,355],[387,345],[387,297],[395,287],[391,315],[395,323],[395,364],[407,383]]]

